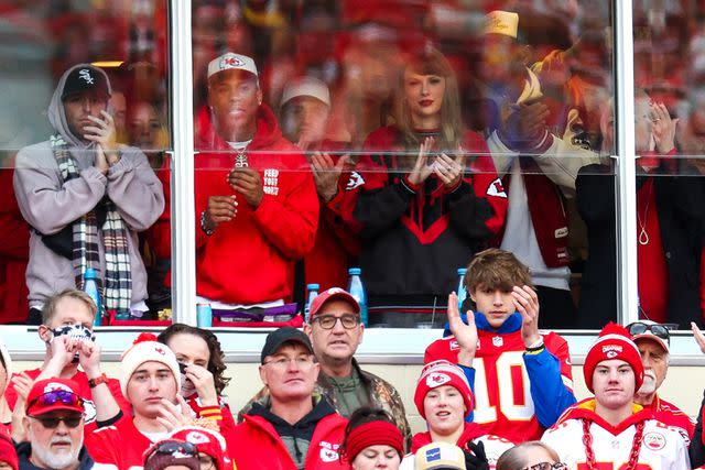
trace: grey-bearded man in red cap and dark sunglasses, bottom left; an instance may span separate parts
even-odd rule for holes
[[[28,442],[17,445],[20,470],[89,470],[94,460],[84,447],[84,400],[66,379],[36,382],[26,397],[23,418]]]

